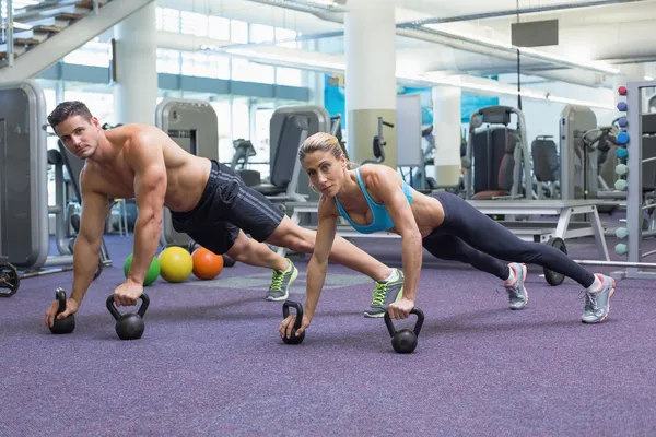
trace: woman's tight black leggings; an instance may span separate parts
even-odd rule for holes
[[[595,275],[549,245],[524,241],[479,210],[449,192],[432,194],[444,209],[444,223],[423,239],[436,258],[460,261],[501,280],[508,277],[509,262],[538,264],[588,288]]]

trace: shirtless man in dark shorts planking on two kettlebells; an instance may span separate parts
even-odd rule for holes
[[[126,281],[114,291],[117,306],[137,305],[143,280],[155,256],[162,231],[163,206],[173,227],[199,245],[236,261],[273,270],[269,300],[284,300],[298,271],[266,244],[311,253],[315,232],[293,223],[280,209],[225,165],[187,153],[153,126],[126,125],[108,131],[81,102],[63,102],[48,116],[67,150],[85,160],[80,174],[82,217],[73,250],[73,287],[65,318],[78,308],[93,279],[109,210],[109,198],[136,199],[133,259]],[[250,234],[248,238],[245,234]],[[403,277],[342,238],[331,259],[376,281],[367,317],[383,317],[385,305],[401,296]],[[57,302],[46,311],[52,326]]]

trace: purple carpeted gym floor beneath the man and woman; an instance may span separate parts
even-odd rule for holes
[[[358,241],[400,265],[399,241]],[[131,244],[107,237],[114,267],[93,283],[72,334],[43,324],[71,273],[24,280],[2,300],[0,435],[656,433],[653,282],[619,281],[609,320],[586,326],[584,295],[570,280],[552,287],[529,265],[528,307],[512,311],[496,279],[426,255],[418,302],[426,319],[417,351],[400,355],[383,319],[362,317],[368,277],[331,264],[305,341],[285,345],[282,304],[265,300],[270,273],[237,263],[210,282],[159,279],[145,288],[143,338],[121,341],[105,299]],[[574,258],[596,255],[591,239],[569,248]],[[307,260],[295,261],[293,300],[304,302]]]

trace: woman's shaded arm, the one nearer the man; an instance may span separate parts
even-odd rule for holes
[[[333,201],[332,201],[333,202]],[[321,198],[319,202],[317,235],[315,249],[307,264],[307,288],[305,299],[305,315],[312,320],[317,309],[319,296],[326,281],[328,257],[337,232],[337,216],[331,213],[330,201]]]

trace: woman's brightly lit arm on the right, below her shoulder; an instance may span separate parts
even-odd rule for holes
[[[403,297],[417,299],[417,284],[421,272],[423,248],[421,233],[412,214],[412,208],[399,186],[396,172],[388,167],[376,167],[371,170],[367,187],[385,204],[394,227],[401,236],[403,257]]]

